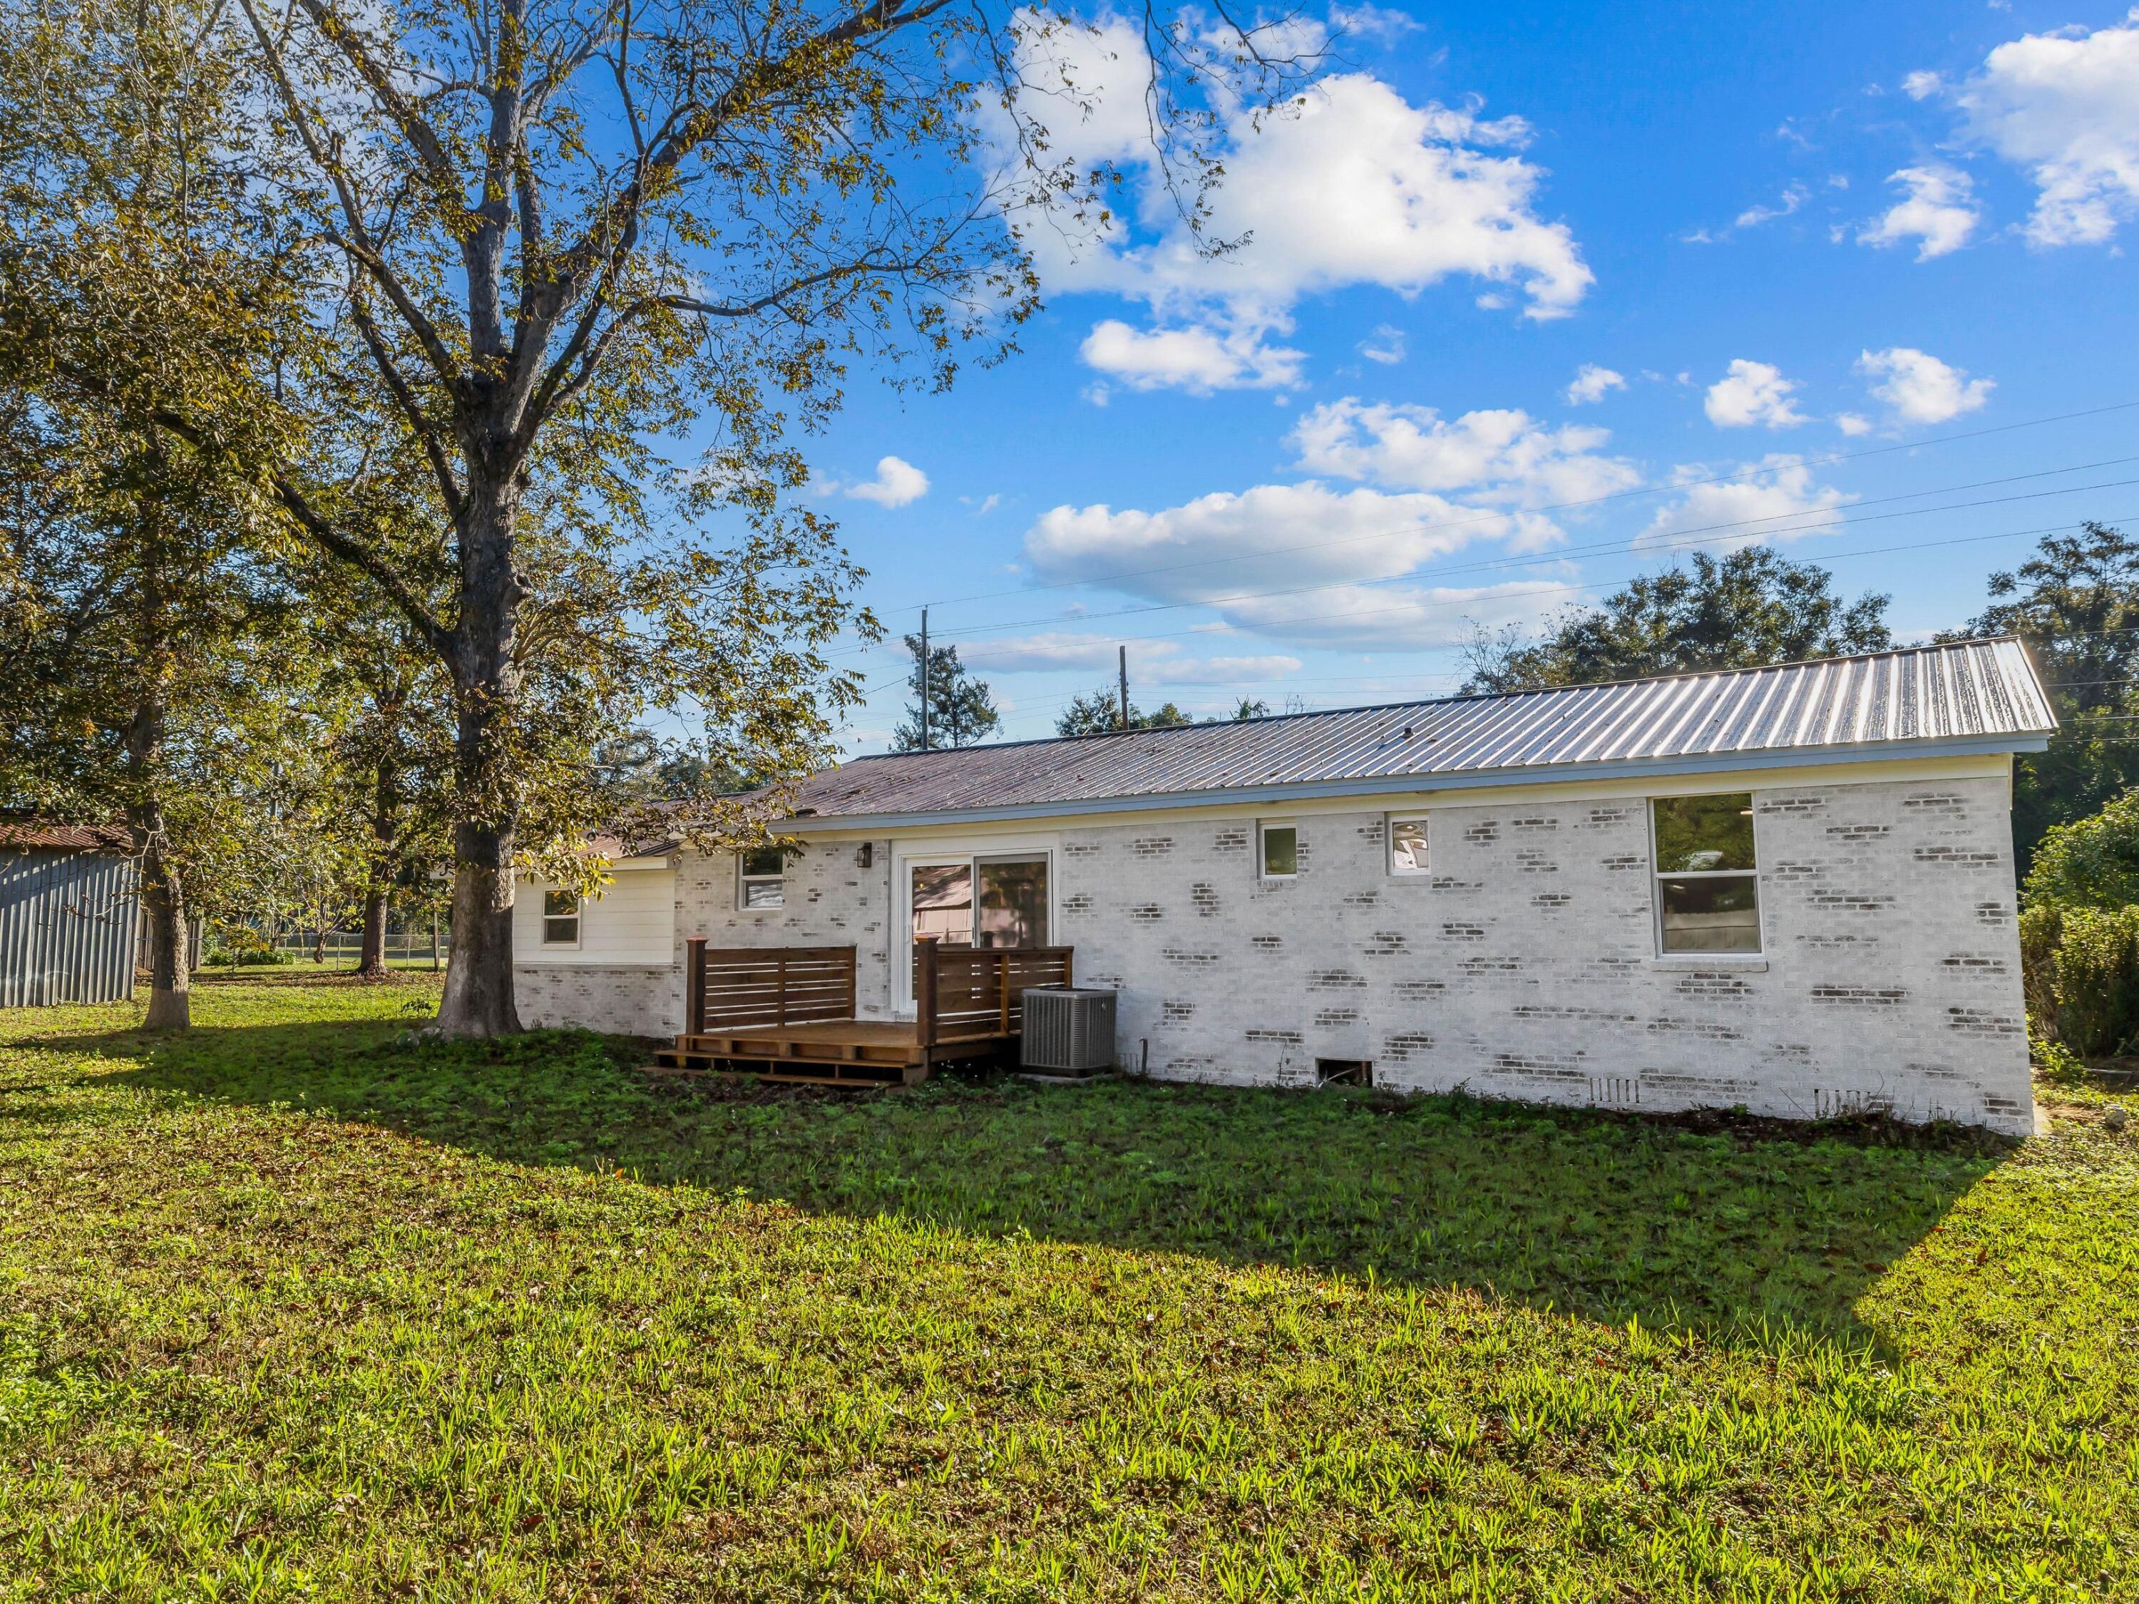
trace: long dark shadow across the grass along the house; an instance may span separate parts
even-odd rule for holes
[[[1846,1341],[1869,1335],[1852,1313],[1867,1285],[2011,1151],[1974,1131],[1701,1131],[1469,1097],[1142,1080],[665,1084],[635,1071],[642,1046],[575,1031],[438,1044],[394,1022],[302,1022],[21,1046],[135,1061],[105,1084],[297,1104],[494,1159],[821,1213]]]

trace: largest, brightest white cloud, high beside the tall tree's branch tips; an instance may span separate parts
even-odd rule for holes
[[[1521,295],[1527,317],[1553,319],[1594,282],[1568,227],[1536,212],[1544,173],[1521,154],[1521,118],[1412,105],[1365,73],[1324,77],[1277,115],[1243,105],[1213,139],[1226,178],[1198,237],[1151,150],[1138,26],[1055,30],[1027,41],[1020,71],[1050,88],[1020,103],[1050,124],[1050,160],[1067,173],[1110,165],[1127,190],[1119,207],[1020,220],[1042,282],[1147,304],[1151,338],[1206,331],[1194,353],[1179,342],[1138,353],[1112,331],[1089,342],[1089,355],[1134,361],[1142,383],[1292,383],[1271,374],[1296,353],[1268,351],[1268,336],[1290,329],[1301,297],[1352,284],[1416,295],[1480,278]],[[1209,242],[1238,244],[1211,252]]]

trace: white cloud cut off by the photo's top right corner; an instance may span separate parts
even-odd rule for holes
[[[2030,242],[2100,244],[2139,212],[2139,9],[2004,43],[1953,98],[1968,133],[2034,180]]]

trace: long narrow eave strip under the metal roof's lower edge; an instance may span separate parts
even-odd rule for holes
[[[1769,751],[1690,753],[1679,757],[1628,757],[1600,764],[1534,764],[1521,768],[1476,768],[1422,774],[1371,774],[1343,781],[1296,781],[1288,785],[1234,785],[1217,791],[1151,791],[1140,796],[1095,796],[1072,802],[1018,802],[1001,808],[933,808],[928,813],[832,813],[783,819],[791,836],[856,830],[918,830],[937,823],[992,823],[1016,819],[1074,819],[1084,813],[1151,813],[1159,808],[1264,806],[1318,802],[1348,796],[1414,796],[1427,791],[1476,791],[1508,785],[1566,785],[1568,781],[1664,778],[1675,774],[1745,774],[1767,768],[1842,768],[1848,764],[1906,757],[1996,757],[2038,753],[2049,736],[1998,734],[1944,740],[1878,740],[1848,746],[1778,746]]]

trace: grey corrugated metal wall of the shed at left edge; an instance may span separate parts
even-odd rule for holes
[[[133,997],[139,907],[128,858],[0,851],[0,1007]]]

